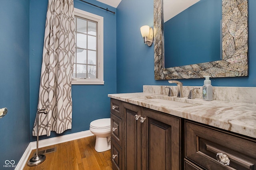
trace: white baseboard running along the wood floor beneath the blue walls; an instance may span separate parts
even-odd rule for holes
[[[63,136],[59,136],[59,137],[52,137],[52,138],[49,138],[49,139],[40,140],[38,142],[38,147],[39,148],[48,147],[48,146],[51,146],[51,145],[56,145],[56,144],[59,144],[59,143],[73,141],[73,140],[76,140],[76,139],[81,139],[81,138],[90,137],[90,136],[93,136],[93,134],[91,133],[90,130],[88,130],[88,131],[72,133],[72,134],[69,134],[69,135],[63,135]],[[28,144],[28,147],[25,150],[22,157],[20,158],[20,161],[18,162],[15,170],[22,170],[25,167],[25,165],[27,164],[28,156],[30,156],[30,153],[34,149],[36,149],[36,141],[30,142]]]

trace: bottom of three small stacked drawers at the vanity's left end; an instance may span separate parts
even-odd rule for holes
[[[122,149],[115,141],[111,141],[111,162],[113,170],[120,170],[122,167]]]

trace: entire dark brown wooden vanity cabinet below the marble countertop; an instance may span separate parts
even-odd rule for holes
[[[256,139],[112,98],[111,129],[114,170],[256,170]]]

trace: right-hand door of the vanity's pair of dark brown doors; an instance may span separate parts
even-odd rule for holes
[[[149,109],[142,116],[142,169],[182,169],[180,119]]]

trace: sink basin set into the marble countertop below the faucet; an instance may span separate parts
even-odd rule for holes
[[[152,100],[154,102],[166,103],[166,104],[173,104],[176,106],[186,106],[188,104],[199,104],[201,101],[200,99],[188,99],[187,97],[178,98],[176,96],[163,96],[163,95],[154,95],[154,96],[146,96],[147,100]]]

